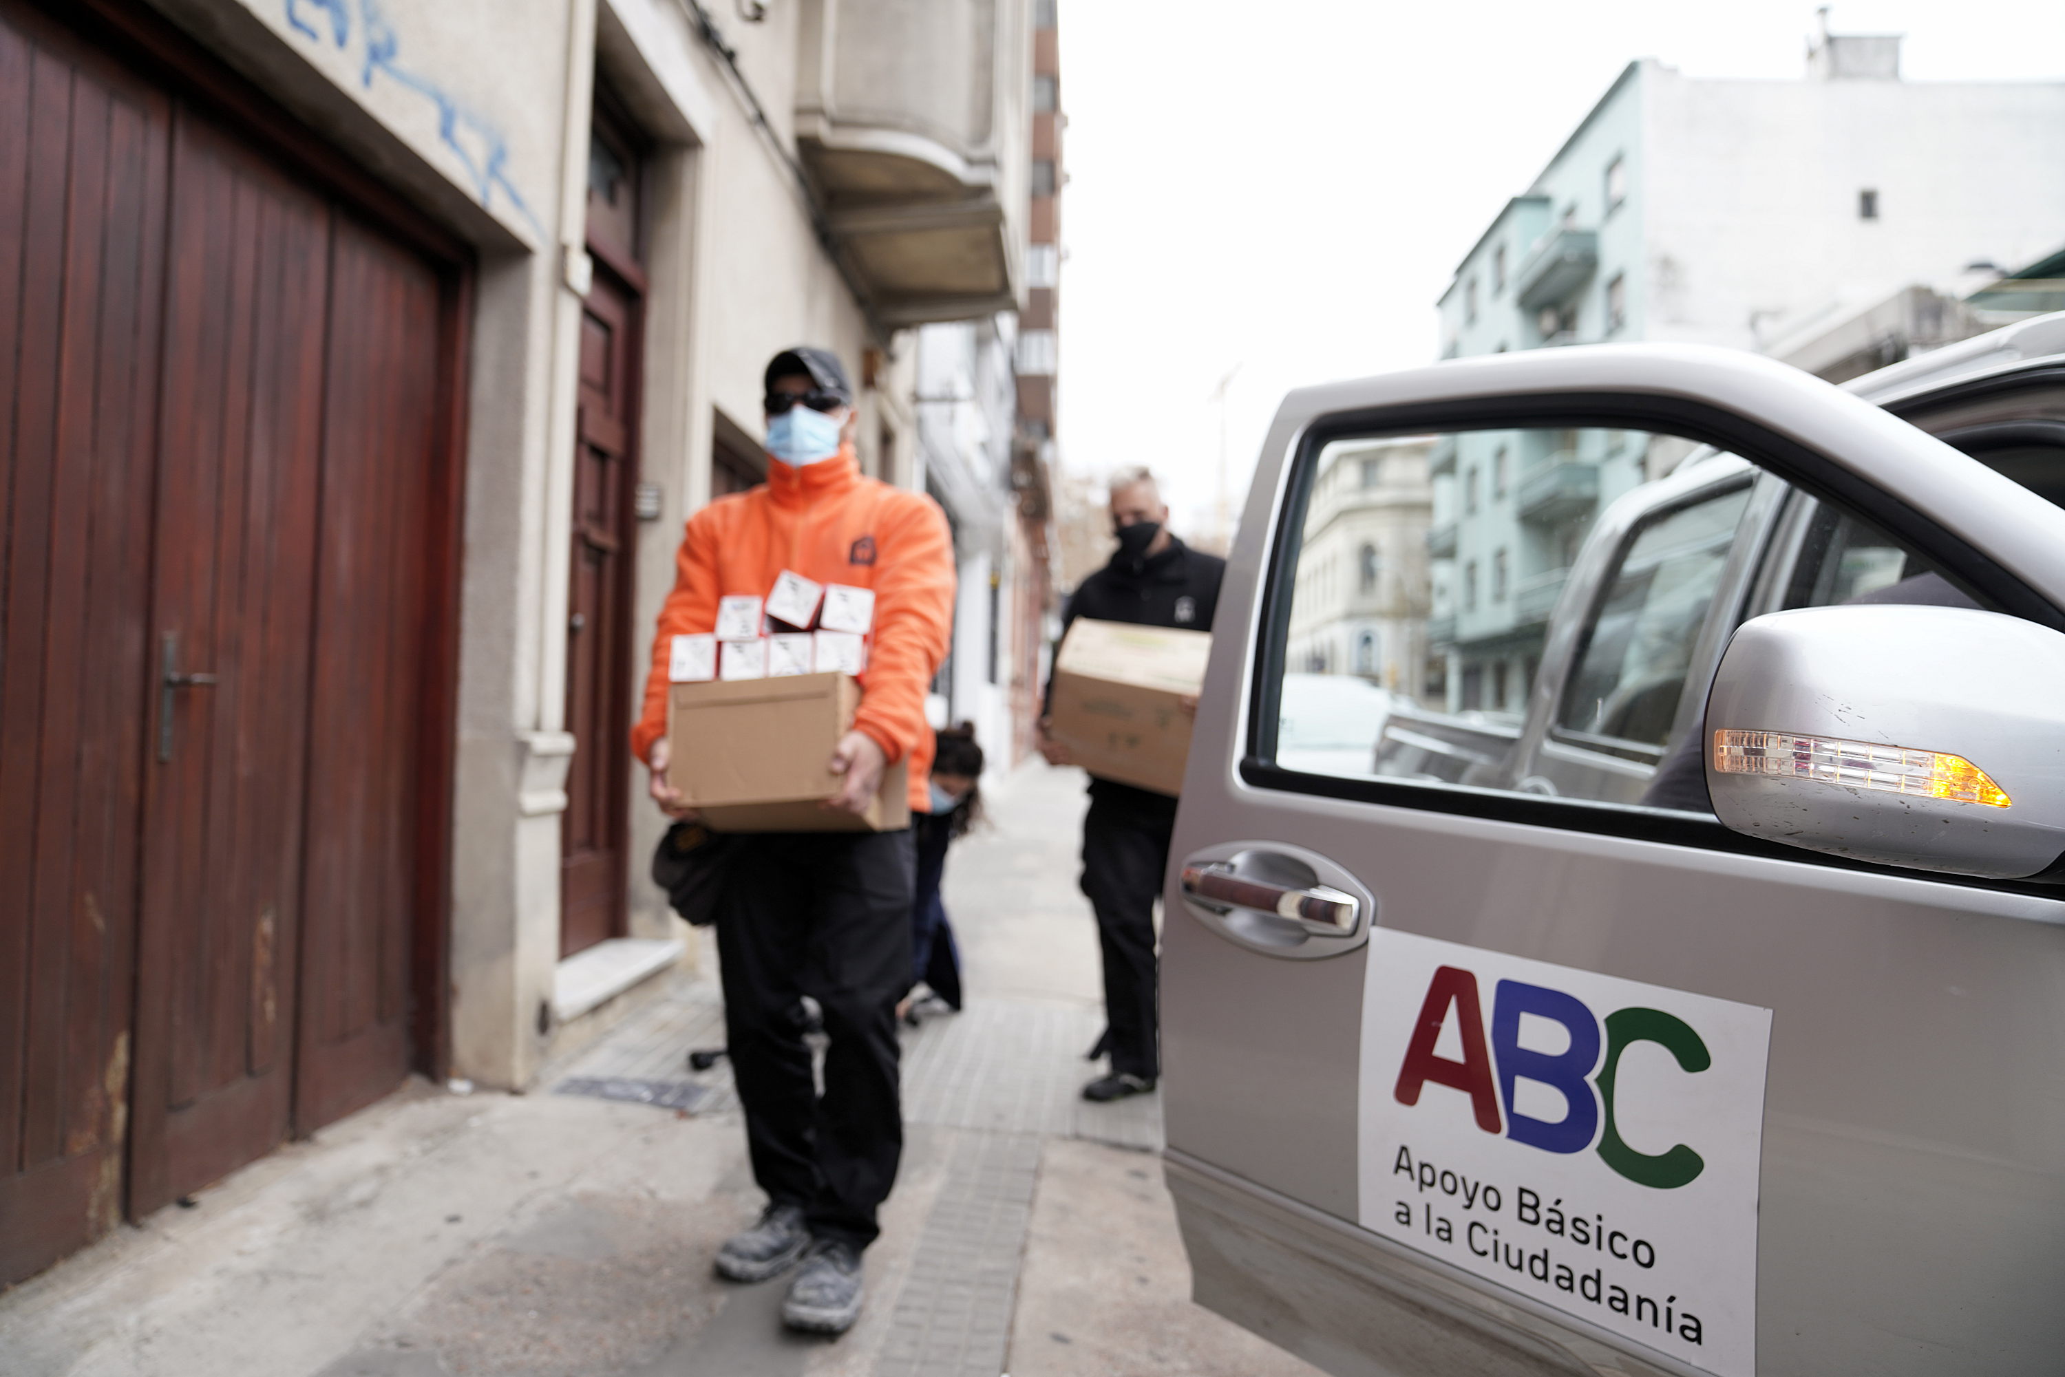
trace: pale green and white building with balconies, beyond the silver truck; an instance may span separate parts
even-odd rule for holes
[[[1629,64],[1458,264],[1443,357],[1683,341],[1865,372],[1894,316],[1916,341],[1958,337],[1956,310],[1945,322],[1902,293],[1956,297],[1972,264],[2055,248],[2065,83],[1908,83],[1898,64],[1879,35],[1823,35],[1792,83]],[[1431,640],[1450,710],[1524,708],[1571,553],[1677,458],[1658,444],[1487,431],[1435,450]]]

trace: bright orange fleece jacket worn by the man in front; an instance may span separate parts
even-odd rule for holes
[[[632,751],[644,760],[667,733],[673,638],[717,630],[717,599],[766,597],[783,570],[820,584],[873,588],[876,626],[853,725],[873,737],[890,764],[909,758],[911,807],[925,811],[931,805],[925,692],[954,634],[954,537],[946,512],[925,493],[861,477],[851,446],[816,465],[768,460],[766,483],[719,498],[688,518],[673,593],[659,609]]]

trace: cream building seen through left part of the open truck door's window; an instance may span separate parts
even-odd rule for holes
[[[1427,522],[1433,440],[1334,446],[1313,477],[1286,665],[1427,690]]]

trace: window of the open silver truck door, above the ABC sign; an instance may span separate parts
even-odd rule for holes
[[[1607,805],[1697,838],[1673,828],[1712,818],[1702,714],[1745,617],[2003,611],[1887,535],[1883,512],[1865,520],[1759,469],[1747,440],[1739,456],[1605,423],[1315,429],[1266,570],[1256,784],[1412,803],[1406,784],[1435,791],[1427,807],[1528,822],[1567,801],[1590,805],[1569,826],[1619,830]],[[2046,483],[2065,495],[2065,465],[2018,446],[1976,458],[2032,500]],[[1982,564],[1970,576],[1997,580]]]

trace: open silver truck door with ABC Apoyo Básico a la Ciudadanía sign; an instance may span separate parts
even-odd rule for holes
[[[1342,520],[1313,493],[1384,444],[1433,460],[1443,551],[1386,630],[1415,646],[1386,687],[1507,735],[1540,694],[1553,743],[1625,768],[1549,795],[1278,762],[1282,675],[1361,615],[1301,557]],[[1722,481],[1673,479],[1683,500],[1602,531],[1611,557],[1561,588],[1605,506],[1699,444]],[[2057,890],[1846,863],[1728,832],[1699,791],[1650,797],[1697,731],[1714,628],[1759,597],[1780,483],[1883,537],[1854,562],[1898,549],[2065,626],[2065,512],[1749,355],[1559,349],[1284,403],[1165,894],[1167,1175],[1200,1303],[1334,1373],[2055,1363]],[[1877,582],[1832,557],[1823,597]]]

